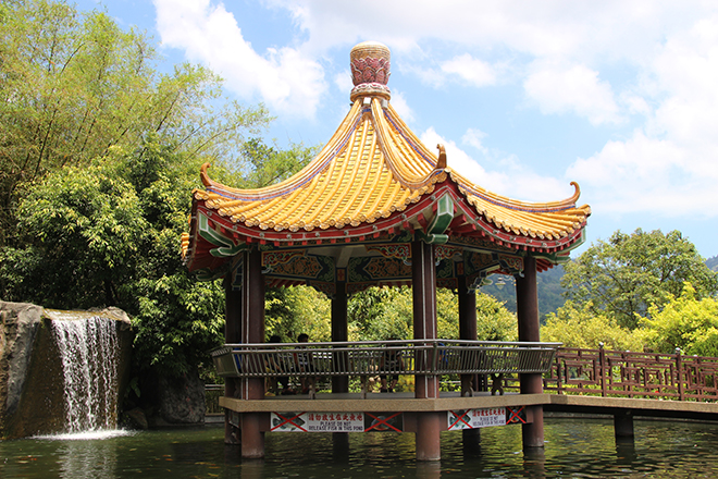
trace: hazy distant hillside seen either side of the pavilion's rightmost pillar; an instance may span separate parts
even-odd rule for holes
[[[556,266],[548,271],[538,273],[536,277],[536,286],[538,290],[538,315],[542,318],[549,312],[555,312],[558,307],[564,305],[561,293],[561,278],[564,277],[564,267]],[[483,286],[482,293],[490,294],[496,299],[506,303],[509,311],[516,312],[516,280],[513,277],[492,275],[493,284]],[[503,283],[503,284],[502,284]]]

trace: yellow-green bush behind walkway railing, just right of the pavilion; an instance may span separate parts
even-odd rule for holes
[[[541,327],[541,340],[564,343],[565,347],[597,349],[643,351],[642,336],[617,323],[608,315],[595,314],[591,302],[577,305],[566,302],[556,312],[548,315]]]

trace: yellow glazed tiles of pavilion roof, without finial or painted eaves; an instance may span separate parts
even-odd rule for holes
[[[269,231],[313,231],[373,223],[455,183],[476,216],[503,232],[558,240],[582,228],[589,206],[572,197],[554,202],[518,201],[491,193],[440,163],[385,99],[359,97],[322,151],[293,177],[259,189],[236,189],[212,181],[196,200],[231,222]],[[470,222],[467,219],[467,222]],[[460,226],[460,225],[459,225]]]

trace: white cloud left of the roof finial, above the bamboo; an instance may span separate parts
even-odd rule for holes
[[[322,66],[300,50],[259,54],[245,40],[234,15],[210,0],[154,0],[162,44],[185,51],[226,78],[237,96],[268,103],[276,113],[313,116],[326,88]]]

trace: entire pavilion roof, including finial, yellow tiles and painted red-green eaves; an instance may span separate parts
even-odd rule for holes
[[[527,202],[472,184],[430,151],[389,105],[388,48],[351,50],[351,110],[320,153],[276,185],[237,189],[210,179],[194,192],[183,256],[190,270],[213,271],[249,243],[276,247],[392,241],[410,232],[433,244],[549,255],[558,261],[583,241],[591,214],[565,200]],[[383,236],[382,236],[383,235]],[[554,256],[552,256],[554,255]]]

